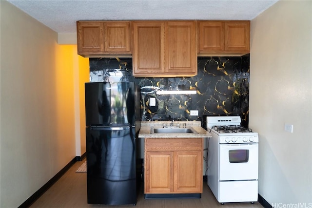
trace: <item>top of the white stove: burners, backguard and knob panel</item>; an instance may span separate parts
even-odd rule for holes
[[[258,143],[258,133],[240,123],[240,116],[207,116],[207,130],[219,136],[220,144]]]

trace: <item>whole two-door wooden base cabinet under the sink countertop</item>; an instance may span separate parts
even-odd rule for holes
[[[145,139],[144,193],[202,193],[202,138]]]

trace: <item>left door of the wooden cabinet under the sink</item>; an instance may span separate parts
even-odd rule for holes
[[[174,161],[172,151],[146,151],[144,192],[173,192],[173,164]]]

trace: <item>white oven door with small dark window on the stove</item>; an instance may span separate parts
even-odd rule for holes
[[[220,144],[219,180],[257,180],[258,143]]]

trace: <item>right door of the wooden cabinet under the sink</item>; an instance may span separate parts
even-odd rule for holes
[[[202,193],[202,158],[202,151],[175,151],[175,192]]]

